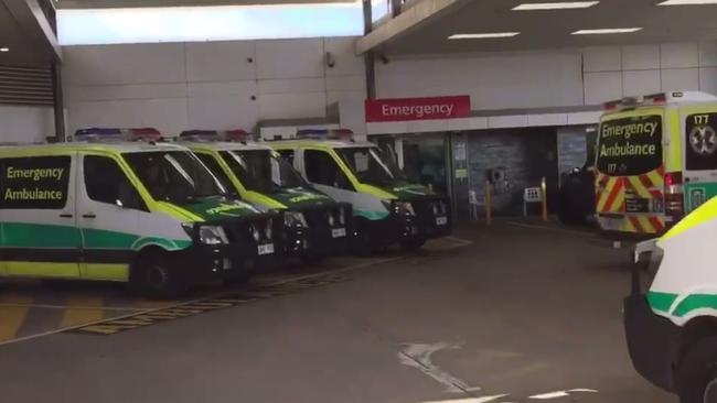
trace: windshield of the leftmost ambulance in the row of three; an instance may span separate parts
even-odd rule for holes
[[[192,153],[153,151],[124,156],[156,200],[181,205],[226,195],[216,177]]]

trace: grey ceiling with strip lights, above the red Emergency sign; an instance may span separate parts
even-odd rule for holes
[[[357,43],[386,54],[541,50],[717,39],[717,6],[657,7],[662,0],[601,0],[581,10],[513,11],[560,0],[417,0]],[[570,35],[580,29],[643,28],[630,34]],[[456,33],[521,32],[511,39],[457,40]]]

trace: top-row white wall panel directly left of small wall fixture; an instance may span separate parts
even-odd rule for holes
[[[257,41],[256,63],[259,79],[323,77],[323,41]]]

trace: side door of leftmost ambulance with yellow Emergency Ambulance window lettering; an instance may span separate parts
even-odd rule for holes
[[[8,275],[79,275],[75,166],[74,153],[0,160],[0,238]]]

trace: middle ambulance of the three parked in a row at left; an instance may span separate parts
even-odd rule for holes
[[[271,148],[243,130],[190,130],[179,141],[242,199],[280,211],[285,258],[315,262],[346,250],[351,205],[313,188]]]

